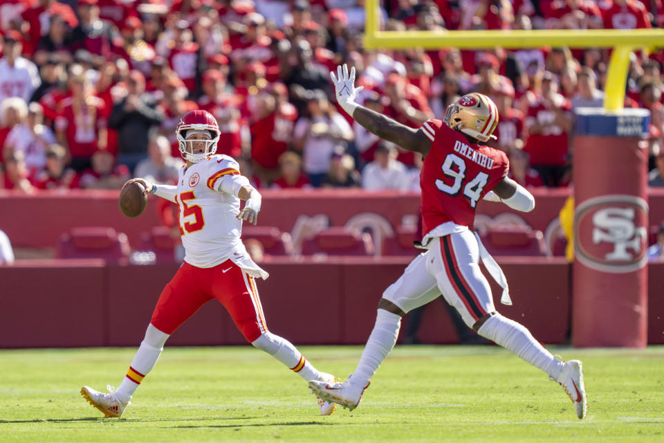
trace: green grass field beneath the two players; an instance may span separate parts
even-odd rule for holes
[[[398,346],[360,407],[331,417],[251,347],[167,347],[124,417],[101,418],[79,390],[117,386],[134,351],[0,351],[0,442],[664,441],[664,347],[553,348],[584,362],[584,420],[562,388],[495,346]],[[347,377],[361,348],[302,351]]]

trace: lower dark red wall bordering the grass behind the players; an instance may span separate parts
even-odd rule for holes
[[[569,265],[563,260],[499,260],[514,305],[496,306],[544,343],[569,334]],[[266,264],[259,292],[268,327],[297,344],[365,343],[382,291],[405,259],[335,259]],[[0,347],[138,345],[176,265],[105,266],[100,260],[46,260],[0,266]],[[649,343],[664,343],[664,264],[650,265]],[[546,284],[542,284],[546,282]],[[659,288],[659,289],[657,289]],[[407,317],[405,322],[407,322]],[[403,334],[402,334],[403,338]],[[426,309],[423,343],[458,343],[443,302]],[[205,305],[170,345],[238,345],[244,340],[216,302]]]

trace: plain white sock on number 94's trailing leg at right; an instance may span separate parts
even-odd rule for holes
[[[554,380],[560,375],[564,363],[544,349],[524,325],[514,320],[495,314],[486,320],[477,334],[495,341],[520,359],[540,368]]]

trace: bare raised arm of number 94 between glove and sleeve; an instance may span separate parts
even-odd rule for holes
[[[423,155],[430,150],[431,141],[421,134],[421,131],[402,125],[376,111],[359,106],[353,112],[353,118],[369,132],[405,150],[420,152]]]

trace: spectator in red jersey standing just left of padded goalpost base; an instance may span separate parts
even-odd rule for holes
[[[557,187],[567,170],[571,105],[558,93],[557,78],[548,71],[542,78],[542,96],[528,108],[528,138],[524,151],[546,186]]]

